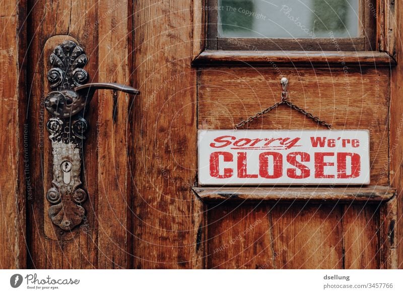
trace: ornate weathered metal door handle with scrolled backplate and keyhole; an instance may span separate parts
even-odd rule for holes
[[[110,89],[140,94],[135,88],[116,83],[89,83],[83,69],[88,58],[84,50],[68,40],[56,46],[49,56],[52,68],[47,78],[52,92],[45,98],[45,107],[52,115],[47,122],[52,144],[53,181],[46,193],[50,202],[48,214],[52,222],[63,230],[79,225],[85,215],[81,205],[87,192],[79,188],[81,182],[81,149],[88,123],[84,119],[95,90]]]

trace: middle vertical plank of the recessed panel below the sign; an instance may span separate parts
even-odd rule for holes
[[[276,205],[272,211],[278,269],[343,268],[341,209],[337,204]]]

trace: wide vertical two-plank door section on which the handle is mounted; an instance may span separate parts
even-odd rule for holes
[[[84,147],[83,187],[89,199],[84,203],[86,218],[73,238],[57,230],[44,207],[44,191],[50,185],[50,148],[45,124],[47,113],[44,95],[49,92],[46,80],[48,56],[54,46],[69,36],[82,45],[89,62],[90,81],[129,82],[127,19],[116,23],[117,16],[127,15],[127,5],[108,1],[70,3],[29,3],[32,13],[28,36],[31,58],[28,63],[29,121],[31,162],[35,163],[34,197],[29,203],[31,267],[37,268],[118,268],[128,267],[130,242],[127,227],[127,124],[130,99],[112,92],[95,95],[87,113],[90,129]],[[103,15],[102,24],[98,16]],[[56,35],[56,36],[55,36]],[[69,35],[69,36],[66,36]],[[51,37],[53,36],[53,37]],[[51,38],[49,38],[51,37]],[[99,42],[98,42],[99,37]],[[110,48],[113,47],[113,51]],[[45,48],[45,49],[44,49]],[[114,170],[114,172],[110,172]],[[45,204],[47,205],[47,204]],[[64,236],[62,235],[64,234]],[[69,240],[64,240],[69,239]]]

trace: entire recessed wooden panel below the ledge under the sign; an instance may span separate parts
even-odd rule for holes
[[[214,205],[208,223],[209,268],[380,267],[375,204]]]

